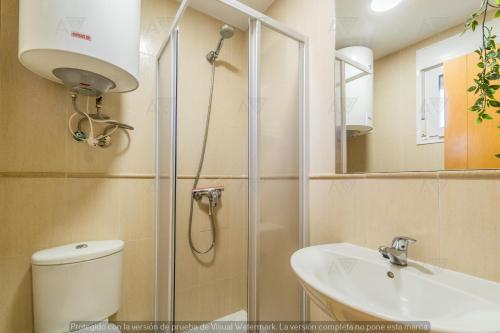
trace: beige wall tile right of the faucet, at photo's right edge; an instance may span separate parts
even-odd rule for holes
[[[500,282],[499,197],[498,179],[440,182],[444,267]]]

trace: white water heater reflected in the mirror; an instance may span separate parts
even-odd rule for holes
[[[364,46],[351,46],[338,53],[373,70],[373,51]],[[373,129],[373,73],[345,67],[346,125],[350,135],[362,135]]]

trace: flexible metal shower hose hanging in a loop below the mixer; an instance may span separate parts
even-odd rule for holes
[[[215,61],[212,61],[212,80],[210,83],[210,97],[208,99],[208,110],[207,110],[207,119],[205,121],[205,135],[203,137],[203,145],[201,148],[201,156],[200,156],[200,162],[198,163],[198,170],[196,171],[196,177],[194,179],[194,184],[193,184],[193,190],[198,187],[198,183],[200,181],[200,176],[201,176],[201,170],[203,169],[203,163],[205,162],[205,151],[207,149],[207,141],[208,141],[208,130],[210,128],[210,116],[212,114],[212,100],[214,97],[214,83],[215,83]],[[209,202],[209,205],[211,205],[212,202]],[[199,250],[196,248],[193,242],[193,206],[194,206],[194,197],[193,194],[191,193],[191,208],[189,209],[189,246],[191,247],[191,250],[198,253],[198,254],[205,254],[210,252],[215,246],[215,237],[216,237],[216,232],[215,232],[215,217],[213,213],[213,209],[209,209],[208,217],[210,219],[210,230],[212,233],[212,243],[210,244],[210,247],[206,250]]]

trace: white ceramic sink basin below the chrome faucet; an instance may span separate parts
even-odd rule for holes
[[[411,255],[411,252],[410,252]],[[492,263],[497,264],[497,263]],[[292,269],[311,299],[338,321],[420,321],[432,332],[500,332],[500,284],[340,243],[295,252]]]

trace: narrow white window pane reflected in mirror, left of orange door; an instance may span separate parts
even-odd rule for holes
[[[422,95],[417,109],[417,144],[444,142],[447,105],[443,65],[424,69],[419,77]]]

